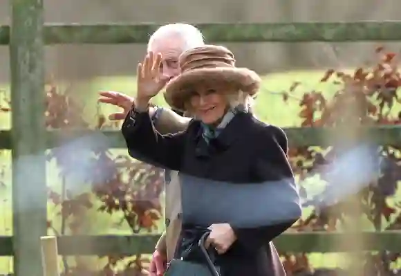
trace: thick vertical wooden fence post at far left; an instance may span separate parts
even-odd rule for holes
[[[14,273],[42,276],[46,235],[43,0],[12,0],[10,73]]]

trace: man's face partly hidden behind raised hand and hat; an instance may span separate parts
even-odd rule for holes
[[[156,54],[162,54],[160,73],[167,75],[170,79],[180,74],[178,57],[183,53],[183,48],[183,40],[176,36],[165,37],[153,42],[150,50]]]

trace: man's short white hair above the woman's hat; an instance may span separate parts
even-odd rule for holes
[[[167,24],[158,28],[156,32],[151,35],[149,43],[147,44],[148,52],[151,50],[156,40],[172,37],[174,35],[183,39],[183,51],[205,45],[201,31],[195,26],[183,23]]]

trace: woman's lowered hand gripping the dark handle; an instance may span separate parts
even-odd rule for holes
[[[213,246],[218,254],[224,254],[236,241],[236,236],[228,223],[216,223],[209,226],[209,237],[206,240],[206,248]]]

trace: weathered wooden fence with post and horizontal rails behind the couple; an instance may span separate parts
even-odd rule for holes
[[[12,149],[13,236],[0,237],[0,256],[14,256],[14,271],[20,276],[42,275],[39,237],[46,235],[45,149],[55,147],[59,131],[44,125],[44,46],[46,44],[146,43],[151,25],[44,25],[42,0],[10,1],[11,26],[0,26],[0,45],[9,45],[12,129],[0,131],[0,149]],[[401,41],[401,21],[353,23],[198,24],[209,42],[359,42]],[[326,145],[331,129],[285,129],[292,146]],[[363,129],[381,144],[401,141],[400,127]],[[82,136],[88,131],[75,131]],[[118,131],[104,132],[113,147],[124,147]],[[64,135],[64,134],[63,134]],[[30,157],[35,156],[35,163]],[[26,164],[29,164],[27,166]],[[37,196],[29,186],[35,185]],[[27,208],[30,206],[30,208]],[[399,250],[399,232],[364,232],[366,250]],[[281,250],[332,252],[341,240],[353,234],[326,232],[283,234],[275,243]],[[62,255],[105,255],[150,253],[158,235],[59,237]]]

